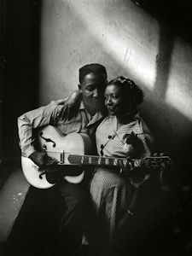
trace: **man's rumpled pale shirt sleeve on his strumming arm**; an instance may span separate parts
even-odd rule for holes
[[[18,118],[18,132],[22,153],[28,157],[35,151],[32,130],[44,125],[55,124],[55,119],[61,112],[62,105],[58,101],[50,102],[47,106],[23,113]]]

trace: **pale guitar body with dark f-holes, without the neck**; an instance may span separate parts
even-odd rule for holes
[[[67,136],[48,125],[38,131],[38,143],[42,151],[47,152],[50,157],[54,157],[61,165],[71,165],[67,156],[69,154],[90,154],[90,137],[82,133],[70,133]],[[32,160],[21,156],[21,166],[28,183],[38,189],[49,189],[54,183],[49,183],[44,175],[44,170],[39,171],[39,167]],[[43,175],[42,175],[43,174]],[[69,183],[80,183],[84,178],[84,172],[78,176],[64,176]]]

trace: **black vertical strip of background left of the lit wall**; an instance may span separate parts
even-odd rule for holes
[[[41,1],[0,1],[0,185],[20,160],[17,117],[38,95]]]

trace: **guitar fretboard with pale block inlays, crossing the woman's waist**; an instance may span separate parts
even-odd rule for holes
[[[126,159],[120,158],[110,158],[110,157],[100,157],[92,155],[79,155],[70,154],[68,156],[68,161],[72,165],[93,165],[93,166],[124,166],[129,164]]]

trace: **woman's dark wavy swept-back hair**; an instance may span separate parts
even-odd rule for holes
[[[143,90],[141,90],[131,79],[125,79],[124,77],[119,76],[109,81],[107,86],[110,84],[122,87],[123,95],[131,100],[135,108],[143,102]]]

